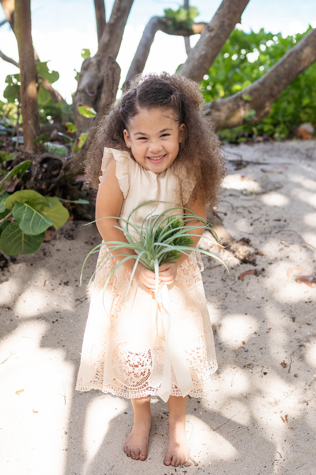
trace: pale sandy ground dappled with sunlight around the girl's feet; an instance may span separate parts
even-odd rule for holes
[[[220,216],[263,255],[254,267],[220,251],[229,276],[205,260],[219,368],[211,394],[188,401],[195,465],[163,466],[167,405],[160,399],[152,401],[149,455],[141,462],[122,450],[130,402],[74,390],[95,258],[81,286],[80,270],[99,235],[94,225],[68,221],[36,254],[18,256],[0,273],[1,474],[315,474],[316,288],[296,278],[315,274],[316,142],[227,145],[224,152]],[[235,170],[240,159],[255,164]],[[264,270],[238,280],[251,269]]]

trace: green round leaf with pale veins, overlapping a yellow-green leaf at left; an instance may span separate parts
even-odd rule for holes
[[[13,206],[13,216],[18,221],[18,226],[26,234],[35,236],[44,232],[54,223],[44,214],[28,203],[16,203]]]

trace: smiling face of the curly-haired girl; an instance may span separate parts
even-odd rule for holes
[[[124,138],[135,160],[146,170],[159,173],[178,155],[184,130],[184,123],[179,126],[172,109],[141,109],[130,120],[128,131],[124,130]]]

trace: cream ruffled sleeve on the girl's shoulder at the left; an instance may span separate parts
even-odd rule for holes
[[[132,168],[132,159],[128,152],[104,147],[101,165],[102,175],[99,176],[99,180],[101,181],[102,176],[104,175],[104,172],[106,171],[109,161],[112,157],[114,157],[116,161],[115,175],[117,177],[119,187],[123,193],[124,199],[126,199],[129,189],[129,175]]]

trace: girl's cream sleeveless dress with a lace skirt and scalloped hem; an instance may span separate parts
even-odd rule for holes
[[[187,187],[186,197],[179,196],[180,192],[176,191],[179,181],[172,166],[154,173],[141,167],[128,152],[105,148],[102,174],[112,157],[116,160],[116,176],[124,195],[120,218],[127,218],[132,209],[149,200],[180,206],[188,202],[192,189]],[[152,206],[143,206],[133,215],[138,227]],[[159,203],[153,214],[170,207],[172,205]],[[125,227],[124,221],[119,224]],[[98,263],[106,252],[106,247],[101,247]],[[162,318],[159,312],[156,318],[154,292],[135,279],[126,298],[130,273],[124,266],[117,268],[104,292],[105,281],[116,264],[115,258],[110,259],[95,275],[76,389],[97,389],[125,398],[156,395],[163,379],[166,344]],[[189,394],[199,398],[210,391],[211,374],[217,370],[217,361],[197,263],[188,257],[178,266],[175,282],[168,288],[174,325],[193,382]],[[182,396],[172,367],[171,382],[170,394]]]

